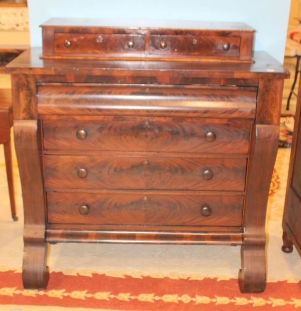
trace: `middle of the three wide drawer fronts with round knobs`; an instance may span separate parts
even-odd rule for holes
[[[237,190],[246,158],[45,155],[48,188]]]

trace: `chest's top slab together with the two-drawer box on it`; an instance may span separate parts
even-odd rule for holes
[[[41,27],[42,49],[24,52],[8,72],[127,77],[147,72],[150,81],[288,77],[270,55],[252,51],[254,29],[244,23],[52,18]]]

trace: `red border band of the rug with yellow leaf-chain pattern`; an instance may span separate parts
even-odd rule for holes
[[[6,287],[4,287],[6,286]],[[290,311],[301,308],[300,283],[268,283],[264,294],[240,294],[236,279],[199,276],[65,276],[52,272],[49,290],[24,290],[20,273],[1,273],[2,304],[105,310]],[[296,298],[299,296],[299,299]],[[260,308],[259,308],[260,307]],[[23,308],[23,310],[30,310]],[[2,310],[2,309],[0,309]]]

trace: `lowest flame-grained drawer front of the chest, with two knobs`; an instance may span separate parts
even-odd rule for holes
[[[242,195],[47,193],[48,222],[240,226]]]

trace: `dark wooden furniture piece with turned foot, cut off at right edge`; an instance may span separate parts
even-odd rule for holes
[[[300,85],[299,85],[300,86]],[[299,88],[301,90],[301,86]],[[301,92],[298,93],[293,144],[289,163],[283,215],[283,248],[293,251],[293,244],[301,256]]]

